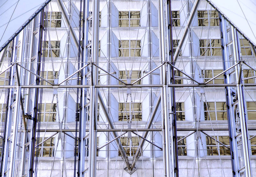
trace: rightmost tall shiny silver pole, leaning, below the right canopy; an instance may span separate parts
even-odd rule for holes
[[[231,26],[231,35],[233,41],[233,55],[234,55],[234,62],[239,62],[239,53],[238,53],[238,42],[237,42],[237,35],[236,30],[233,26]],[[241,64],[240,64],[241,65]],[[239,108],[239,117],[240,117],[240,125],[241,125],[241,135],[242,135],[242,146],[243,146],[243,155],[244,155],[244,167],[245,167],[245,176],[251,177],[251,167],[250,167],[250,156],[249,156],[249,149],[248,149],[248,137],[247,137],[247,126],[246,126],[246,119],[244,115],[244,100],[243,100],[243,89],[241,83],[239,84],[239,67],[236,65],[236,92],[237,92],[237,100],[238,100],[238,108]]]

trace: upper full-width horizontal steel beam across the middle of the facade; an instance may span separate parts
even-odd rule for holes
[[[244,83],[245,87],[255,87],[256,83]],[[236,84],[169,84],[168,87],[235,87]],[[21,88],[89,88],[90,85],[21,85]],[[141,85],[95,85],[95,88],[152,88],[163,87],[161,84],[141,84]],[[12,85],[0,85],[0,88],[17,88]]]

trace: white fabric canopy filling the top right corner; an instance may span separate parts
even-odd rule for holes
[[[256,46],[256,0],[207,0]]]

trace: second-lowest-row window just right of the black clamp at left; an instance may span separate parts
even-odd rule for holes
[[[37,120],[40,120],[41,122],[54,122],[56,121],[56,113],[56,103],[38,104]]]

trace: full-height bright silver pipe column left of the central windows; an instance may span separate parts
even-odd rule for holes
[[[99,0],[92,2],[92,62],[91,78],[90,78],[90,124],[89,124],[89,177],[96,176],[96,152],[97,152],[97,105],[98,93],[94,84],[98,83],[98,68],[99,59]]]

